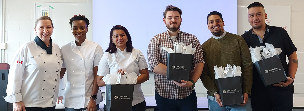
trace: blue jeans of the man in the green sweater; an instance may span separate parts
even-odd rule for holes
[[[251,111],[251,99],[248,97],[248,102],[244,105],[229,105],[220,107],[216,101],[208,99],[208,105],[210,111]]]

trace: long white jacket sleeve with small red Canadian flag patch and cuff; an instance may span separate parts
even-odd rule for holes
[[[22,76],[26,65],[24,53],[27,53],[24,51],[24,48],[19,47],[12,59],[6,90],[8,96],[4,98],[5,101],[9,103],[22,101],[22,94],[20,91],[22,86]]]

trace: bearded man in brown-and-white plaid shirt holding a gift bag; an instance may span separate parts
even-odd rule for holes
[[[163,22],[167,31],[154,36],[148,47],[148,62],[150,69],[155,73],[155,100],[158,110],[197,110],[197,97],[194,90],[195,82],[200,78],[204,67],[203,50],[199,40],[192,34],[179,30],[182,11],[169,5],[164,11]],[[162,47],[172,48],[173,44],[192,44],[196,51],[193,54],[192,74],[190,81],[181,80],[182,83],[168,80],[167,52]],[[178,61],[178,60],[176,60]]]

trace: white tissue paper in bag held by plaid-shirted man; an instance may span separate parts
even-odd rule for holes
[[[181,43],[174,43],[174,49],[162,47],[162,49],[166,50],[168,53],[182,53],[182,54],[194,54],[195,48],[192,48],[192,44],[186,46],[185,44]]]

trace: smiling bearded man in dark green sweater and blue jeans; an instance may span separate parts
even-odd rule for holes
[[[253,81],[252,61],[245,40],[239,35],[224,30],[225,24],[219,12],[210,12],[207,16],[207,24],[212,37],[202,44],[205,65],[201,80],[208,90],[209,110],[252,110],[250,98],[248,98]],[[244,103],[223,107],[215,81],[214,66],[226,67],[227,64],[241,66]]]

